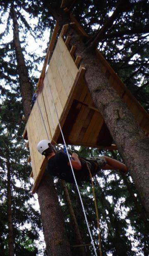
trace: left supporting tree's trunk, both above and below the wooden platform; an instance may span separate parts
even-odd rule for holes
[[[13,6],[12,17],[14,26],[13,41],[18,66],[20,91],[23,99],[24,115],[27,121],[31,112],[31,98],[33,91],[19,41],[19,27]],[[48,256],[71,256],[58,197],[53,180],[47,174],[43,176],[37,193]]]

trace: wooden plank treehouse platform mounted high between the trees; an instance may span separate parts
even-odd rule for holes
[[[73,16],[70,25],[79,34],[85,34]],[[42,139],[49,139],[53,144],[64,144],[60,127],[62,127],[66,144],[116,149],[111,134],[91,99],[84,80],[85,67],[79,65],[81,57],[74,57],[76,46],[68,49],[71,37],[65,37],[67,28],[68,24],[63,27],[55,45],[59,29],[58,24],[55,26],[37,85],[38,97],[23,134],[24,139],[28,139],[27,146],[30,150],[28,161],[31,161],[31,177],[34,177],[33,193],[38,188],[46,167],[46,160],[38,153],[36,145]],[[101,70],[109,83],[124,100],[140,127],[146,134],[149,134],[149,115],[122,83],[102,54],[98,50],[96,54]],[[49,56],[50,63],[46,71]]]

